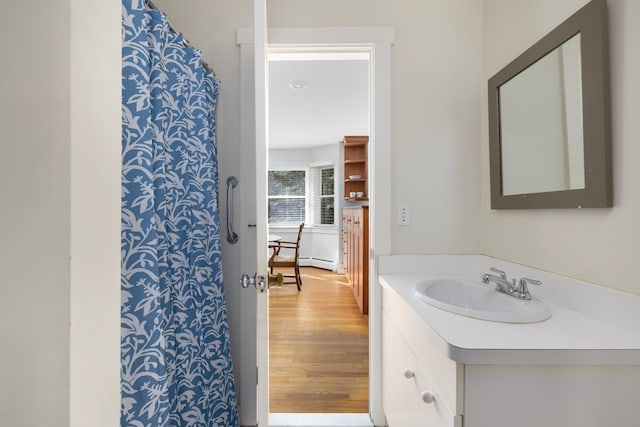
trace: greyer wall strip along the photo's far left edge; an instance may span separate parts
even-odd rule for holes
[[[0,424],[69,423],[69,2],[0,25]]]

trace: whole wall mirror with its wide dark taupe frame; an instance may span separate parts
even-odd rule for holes
[[[491,208],[610,207],[606,1],[489,79]]]

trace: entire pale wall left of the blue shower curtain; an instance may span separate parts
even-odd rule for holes
[[[33,6],[5,5],[0,26],[0,423],[110,427],[120,408],[121,6]]]

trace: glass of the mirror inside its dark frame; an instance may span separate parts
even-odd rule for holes
[[[576,34],[500,86],[502,194],[584,188],[581,81]]]

